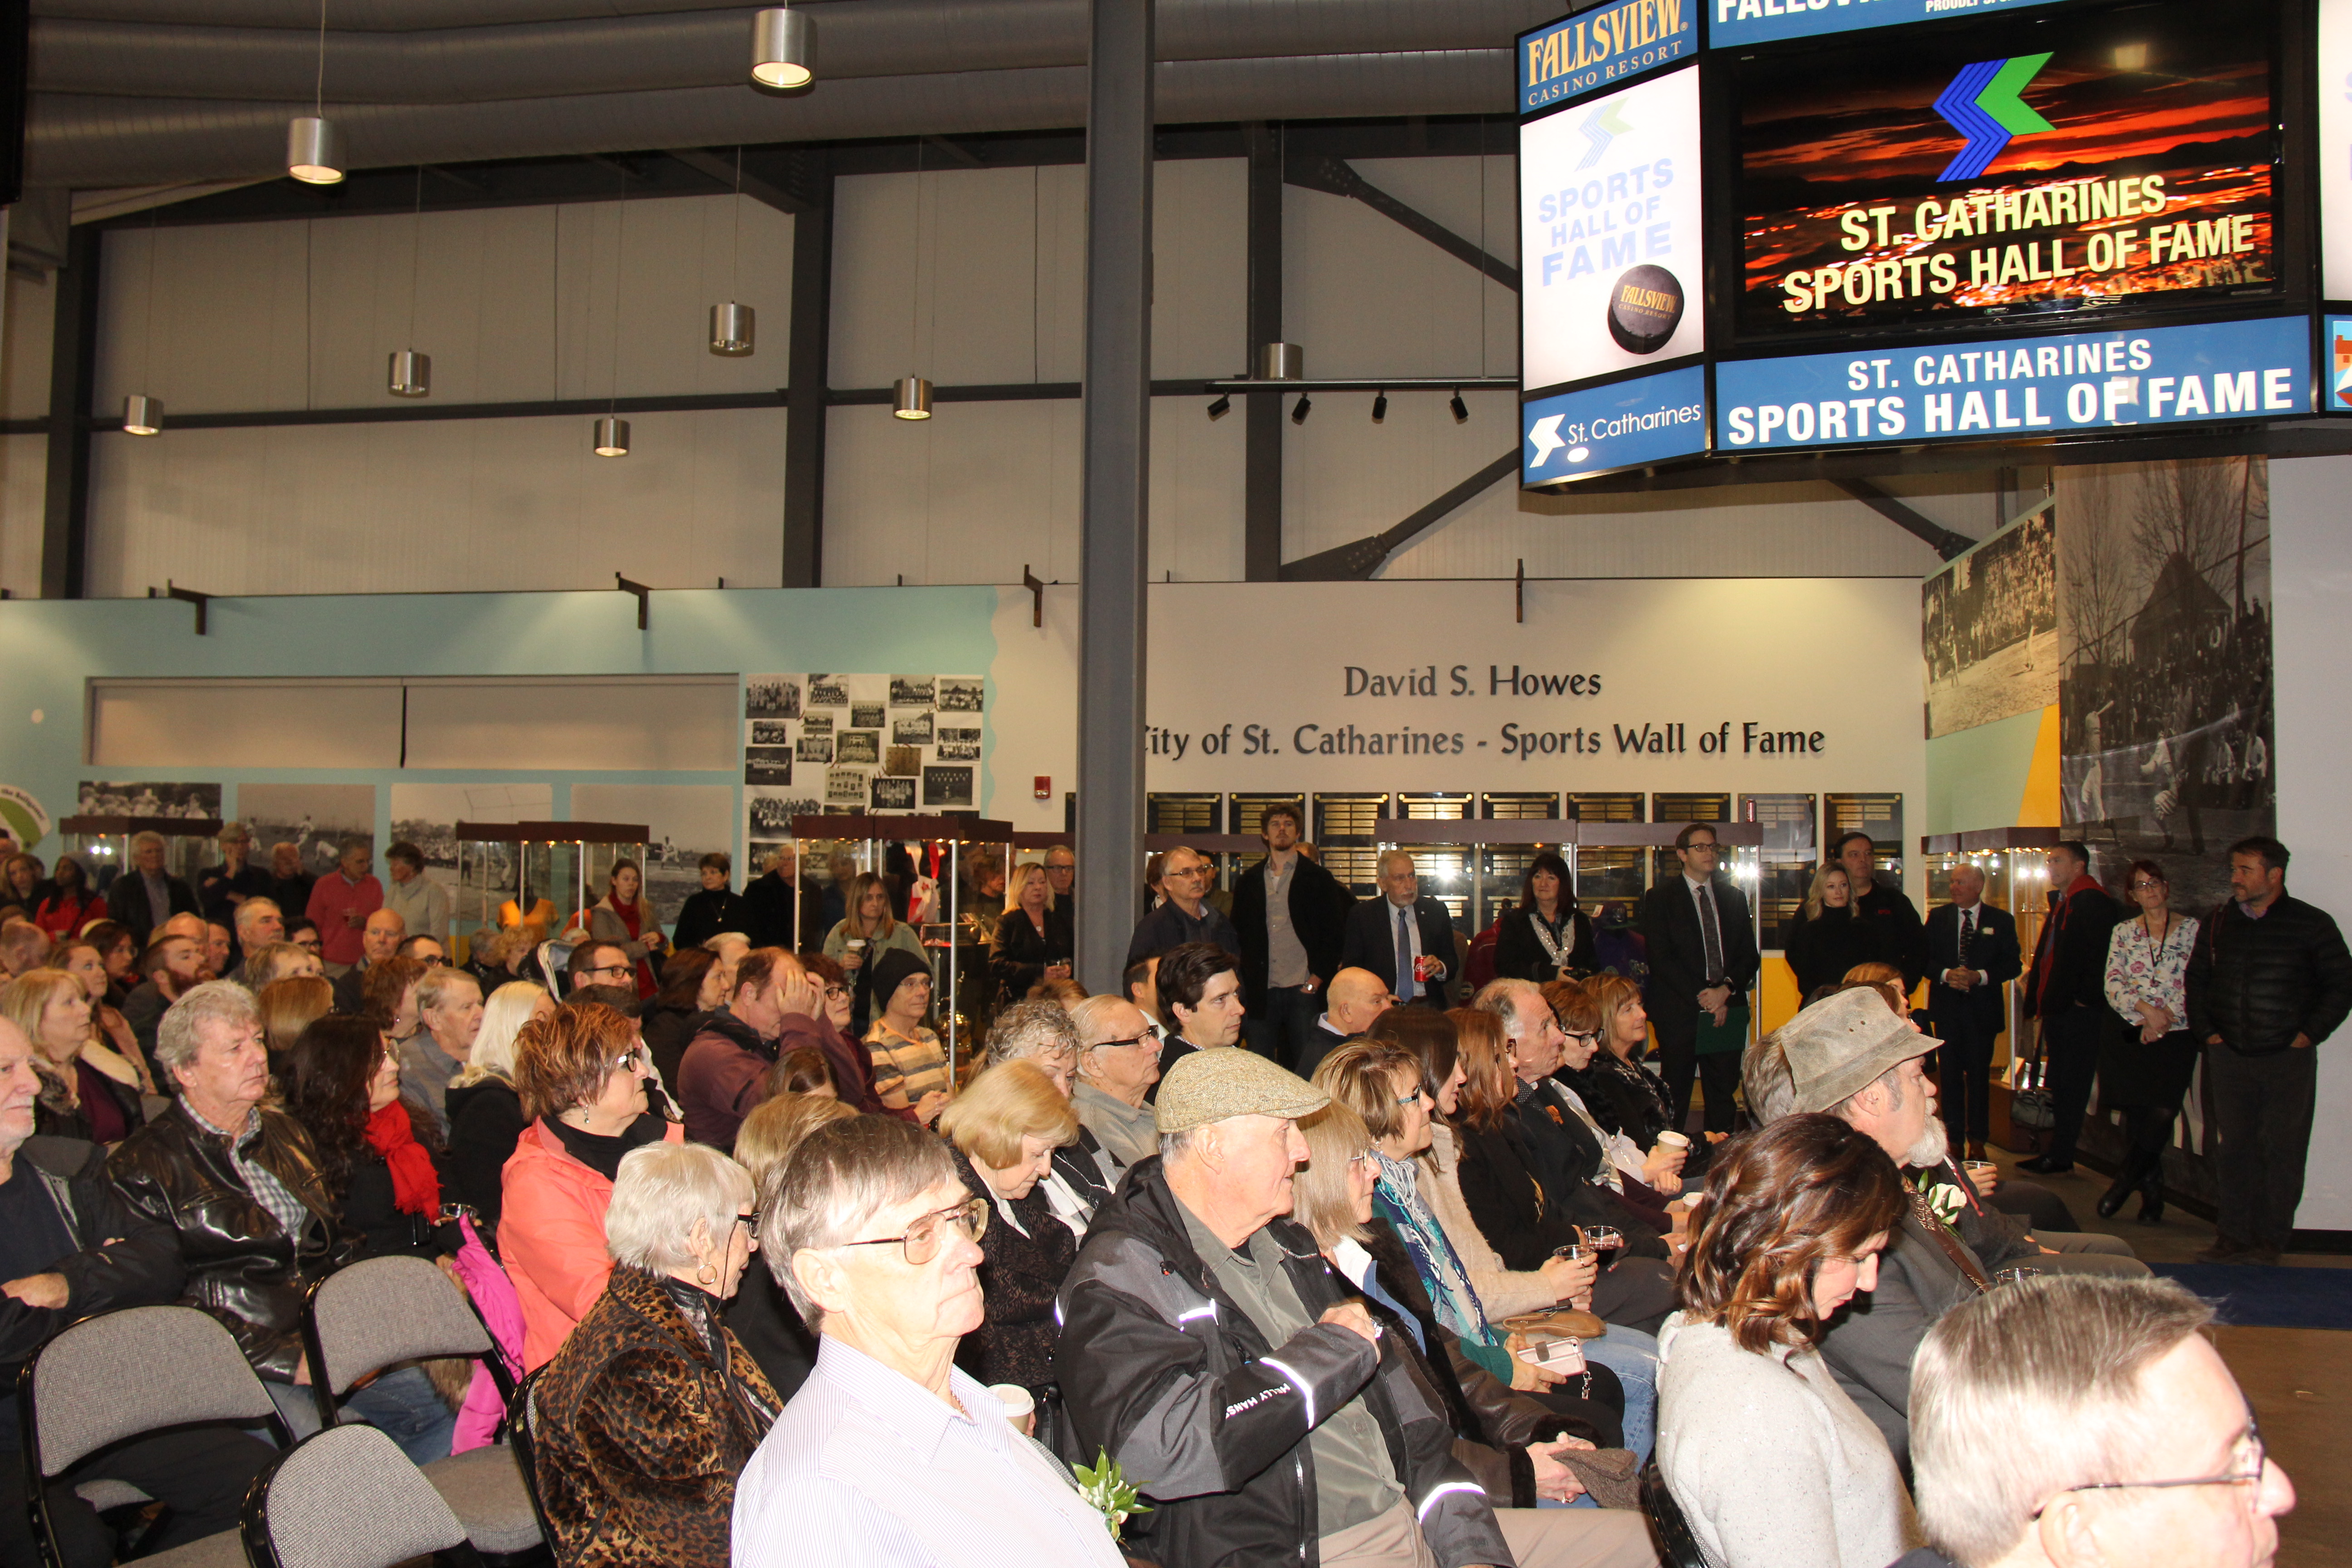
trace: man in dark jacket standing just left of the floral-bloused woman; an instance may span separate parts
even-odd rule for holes
[[[2051,1147],[2020,1159],[2018,1171],[2056,1175],[2074,1168],[2074,1140],[2098,1074],[2098,1030],[2107,1013],[2107,940],[2122,907],[2091,875],[2091,851],[2065,839],[2044,856],[2051,914],[2025,976],[2025,1016],[2042,1020],[2042,1056],[2051,1088]]]

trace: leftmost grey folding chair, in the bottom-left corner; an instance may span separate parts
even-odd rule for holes
[[[158,1375],[155,1368],[169,1368]],[[287,1441],[270,1392],[261,1387],[235,1338],[195,1307],[127,1307],[73,1324],[33,1352],[16,1380],[24,1429],[26,1507],[42,1559],[56,1568],[49,1483],[89,1455],[146,1432],[193,1422],[261,1425]],[[148,1502],[127,1481],[73,1488],[89,1507]],[[158,1568],[242,1568],[233,1530],[139,1559]]]

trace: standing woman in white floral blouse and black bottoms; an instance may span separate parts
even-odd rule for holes
[[[2124,1112],[2129,1150],[2124,1171],[2098,1199],[2098,1215],[2114,1218],[2133,1190],[2140,1222],[2164,1220],[2164,1150],[2173,1140],[2173,1117],[2197,1072],[2183,980],[2197,922],[2173,914],[2171,882],[2154,860],[2133,860],[2124,891],[2140,914],[2107,940],[2107,1020],[2098,1051],[2098,1103]]]

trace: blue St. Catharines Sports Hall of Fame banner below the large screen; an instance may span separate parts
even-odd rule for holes
[[[1715,447],[1990,442],[2312,411],[2312,324],[2065,331],[1715,367]]]

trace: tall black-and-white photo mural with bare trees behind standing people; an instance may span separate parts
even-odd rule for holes
[[[2154,858],[2209,910],[2277,830],[2270,463],[2060,468],[2058,508],[2060,820],[2103,882]]]

